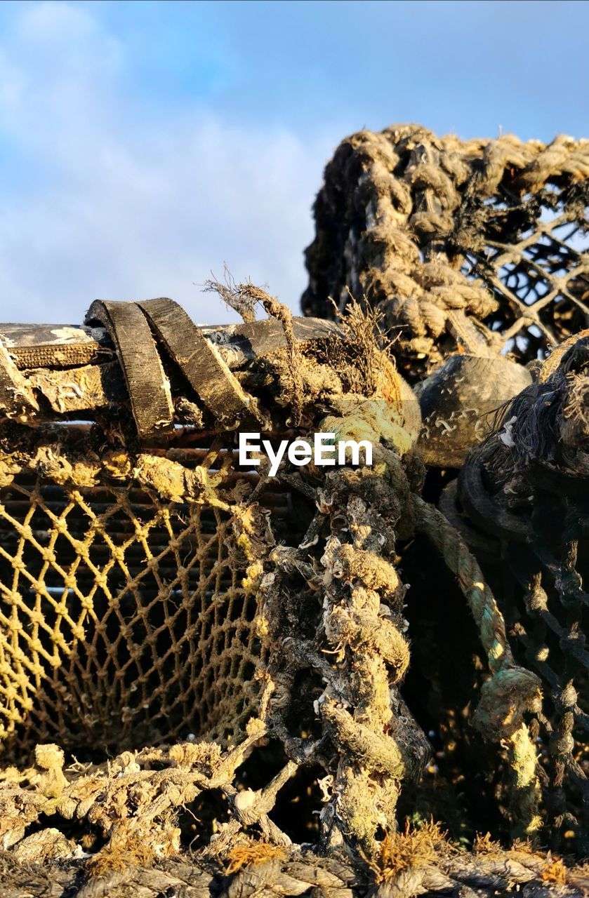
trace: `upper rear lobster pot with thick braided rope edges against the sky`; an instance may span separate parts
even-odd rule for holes
[[[415,383],[457,348],[523,364],[586,327],[589,142],[461,141],[399,125],[327,164],[303,308],[380,308]],[[516,391],[517,392],[517,391]]]

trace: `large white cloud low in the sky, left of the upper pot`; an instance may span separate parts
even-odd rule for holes
[[[298,308],[331,141],[196,104],[139,113],[125,48],[92,12],[21,9],[0,47],[0,320],[76,322],[96,297],[156,295],[228,320],[194,286],[224,261]]]

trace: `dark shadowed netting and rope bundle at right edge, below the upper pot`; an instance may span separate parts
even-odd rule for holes
[[[569,339],[469,454],[442,506],[503,596],[516,657],[540,675],[531,728],[552,845],[589,843],[589,340]]]

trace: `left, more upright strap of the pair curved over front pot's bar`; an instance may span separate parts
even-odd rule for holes
[[[117,348],[139,439],[174,429],[170,384],[145,315],[135,303],[97,300],[86,322],[100,321]]]

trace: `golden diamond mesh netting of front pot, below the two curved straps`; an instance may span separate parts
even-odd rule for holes
[[[67,458],[64,440],[46,457]],[[185,470],[205,453],[184,453]],[[255,705],[266,654],[231,512],[162,495],[132,472],[54,468],[31,459],[0,491],[4,752],[230,739]],[[290,493],[267,491],[261,505],[281,533]]]

